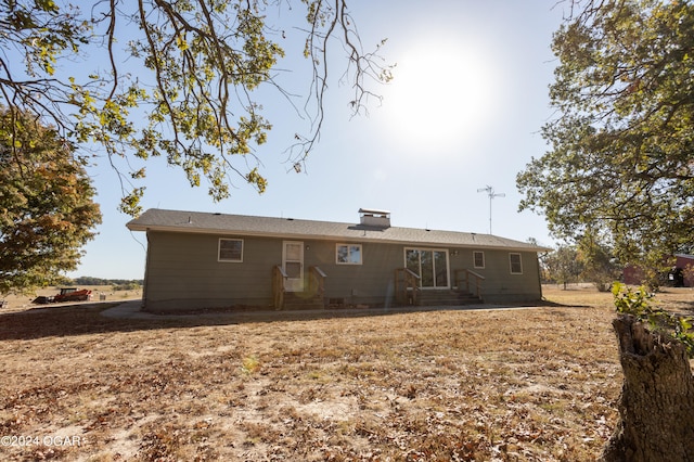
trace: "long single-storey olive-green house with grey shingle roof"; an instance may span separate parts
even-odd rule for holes
[[[542,290],[538,252],[490,234],[150,209],[143,307],[292,309],[527,303]]]

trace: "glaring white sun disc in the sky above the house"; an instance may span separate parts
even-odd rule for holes
[[[384,100],[403,143],[442,146],[479,134],[497,110],[490,56],[460,43],[416,46],[398,61]]]

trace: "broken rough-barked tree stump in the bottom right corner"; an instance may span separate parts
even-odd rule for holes
[[[694,461],[694,378],[684,346],[629,315],[613,326],[625,382],[601,460]]]

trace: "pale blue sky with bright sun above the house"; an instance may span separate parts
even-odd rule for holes
[[[540,128],[552,116],[550,42],[562,3],[359,0],[350,8],[364,49],[387,38],[382,55],[397,64],[390,85],[373,87],[381,104],[374,100],[368,116],[350,117],[351,92],[338,79],[344,53],[336,47],[321,140],[300,174],[285,149],[295,132],[308,130],[308,120],[264,90],[264,114],[274,127],[256,152],[269,181],[265,194],[234,181],[232,196],[214,203],[204,185],[190,188],[181,171],[155,159],[147,164],[144,208],[356,222],[367,207],[390,210],[393,226],[487,233],[489,198],[477,190],[492,185],[505,194],[492,201],[493,234],[553,245],[543,217],[517,211],[515,177],[547,150]],[[287,30],[291,49],[300,38]],[[306,65],[286,59],[280,67],[292,72],[278,78],[306,94]],[[117,210],[118,180],[105,164],[90,169],[103,223],[67,275],[140,279],[146,239],[127,230],[130,217]]]

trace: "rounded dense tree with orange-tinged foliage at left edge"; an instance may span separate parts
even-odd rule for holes
[[[0,294],[61,280],[101,222],[83,165],[53,128],[0,113]]]

